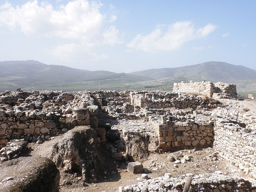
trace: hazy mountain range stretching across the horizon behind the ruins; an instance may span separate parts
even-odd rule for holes
[[[256,91],[256,70],[242,65],[210,61],[177,68],[159,68],[132,73],[89,71],[62,65],[46,65],[39,61],[1,61],[0,91],[23,90],[164,90],[173,83],[200,81],[237,83],[238,92]],[[250,84],[248,86],[247,84]]]

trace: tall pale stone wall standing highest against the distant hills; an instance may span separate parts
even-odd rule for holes
[[[226,84],[226,83],[212,83],[210,81],[202,82],[193,82],[173,84],[173,92],[184,92],[184,93],[197,93],[202,94],[207,97],[212,97],[216,99],[227,98],[227,99],[236,99],[236,85],[235,84]]]

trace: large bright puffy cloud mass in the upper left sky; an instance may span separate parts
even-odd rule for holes
[[[101,6],[99,1],[87,0],[70,1],[66,5],[60,5],[58,9],[54,9],[48,2],[39,4],[36,0],[16,7],[6,2],[0,6],[0,25],[21,30],[27,36],[56,36],[78,39],[88,45],[101,44],[108,23],[100,13]],[[111,15],[110,21],[115,20],[116,15]],[[117,29],[116,32],[118,33]]]

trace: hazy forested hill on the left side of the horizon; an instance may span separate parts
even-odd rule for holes
[[[111,80],[125,77],[127,82],[152,80],[150,77],[136,76],[110,71],[89,71],[62,65],[46,65],[27,61],[0,62],[0,91],[15,90],[18,87],[38,87],[52,84]]]

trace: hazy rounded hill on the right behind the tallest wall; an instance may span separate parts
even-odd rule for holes
[[[256,78],[256,70],[242,65],[232,65],[226,62],[216,61],[177,68],[148,69],[132,72],[130,74],[151,77],[154,79],[183,76],[198,80],[201,74],[201,80],[225,83],[235,83],[239,80]]]

